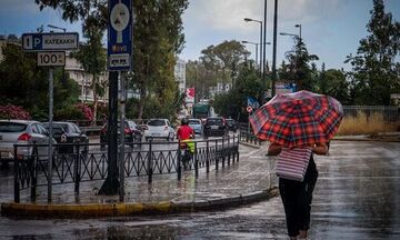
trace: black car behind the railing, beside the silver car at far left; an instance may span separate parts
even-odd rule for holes
[[[44,128],[49,131],[49,122],[43,123]],[[59,144],[59,153],[74,153],[77,147],[73,143],[81,143],[80,152],[88,152],[88,136],[83,134],[80,128],[72,122],[62,122],[54,121],[52,123],[52,134],[58,143],[69,143],[69,144]]]

